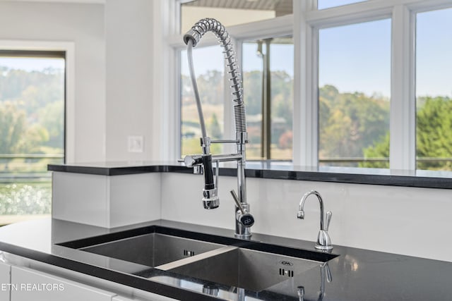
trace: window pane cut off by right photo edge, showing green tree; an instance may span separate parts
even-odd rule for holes
[[[452,171],[452,8],[416,16],[417,169]]]

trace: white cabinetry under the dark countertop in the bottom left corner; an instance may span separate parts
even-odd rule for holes
[[[0,262],[0,301],[175,301],[13,254],[7,260]]]

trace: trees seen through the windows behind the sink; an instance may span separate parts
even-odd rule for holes
[[[261,85],[260,71],[243,74],[244,100],[250,144],[248,158],[258,158],[261,141]],[[273,71],[272,80],[272,152],[282,156],[273,159],[291,159],[293,80],[284,71]],[[215,84],[216,83],[216,84]],[[189,78],[182,78],[183,118],[182,135],[196,140],[187,147],[182,140],[183,154],[200,152],[198,115],[189,106],[195,106]],[[198,86],[205,112],[208,135],[215,138],[222,133],[223,87],[222,73],[210,71],[200,75]],[[333,85],[319,89],[319,159],[355,159],[348,162],[326,163],[333,166],[388,168],[390,101],[379,94],[339,92]],[[218,126],[220,125],[220,126]],[[452,157],[452,101],[448,97],[418,97],[417,99],[417,156],[419,158]],[[185,146],[185,147],[184,147]],[[217,147],[217,145],[215,145]],[[255,151],[255,152],[254,152]],[[213,150],[215,152],[215,150]],[[381,159],[359,161],[359,159]],[[452,170],[451,161],[419,161],[418,169]]]

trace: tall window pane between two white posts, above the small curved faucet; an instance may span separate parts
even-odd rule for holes
[[[321,166],[389,167],[390,91],[391,20],[319,30]]]

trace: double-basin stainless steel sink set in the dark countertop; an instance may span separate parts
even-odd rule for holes
[[[182,275],[200,283],[216,283],[253,292],[261,292],[318,268],[337,256],[162,226],[109,233],[59,245],[148,266],[150,271],[162,271],[160,275]],[[148,278],[162,282],[168,279],[165,276]]]

